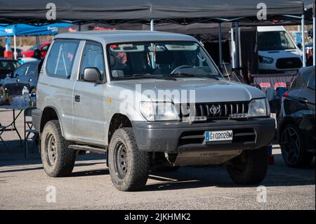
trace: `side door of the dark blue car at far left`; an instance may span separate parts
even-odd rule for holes
[[[21,81],[25,77],[27,70],[29,69],[29,63],[21,65],[12,74],[11,79],[6,80],[5,88],[8,89],[10,96],[22,95]]]

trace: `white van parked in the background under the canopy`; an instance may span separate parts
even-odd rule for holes
[[[282,26],[258,27],[258,62],[261,74],[284,73],[302,67],[302,51]]]

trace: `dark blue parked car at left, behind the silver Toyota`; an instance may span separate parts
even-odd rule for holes
[[[5,88],[8,89],[10,98],[22,95],[24,86],[27,86],[30,93],[35,92],[42,63],[42,61],[27,62],[8,74],[6,79],[0,82],[0,98],[4,95]]]

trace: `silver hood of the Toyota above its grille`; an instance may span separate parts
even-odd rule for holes
[[[217,103],[265,97],[258,88],[225,79],[134,79],[112,81],[111,85],[129,89],[131,93],[142,93],[142,96],[160,102],[172,99],[173,103],[184,103],[185,100],[185,103]]]

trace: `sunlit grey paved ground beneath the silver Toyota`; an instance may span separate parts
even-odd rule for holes
[[[0,112],[5,123],[8,112]],[[22,126],[20,124],[20,126]],[[232,183],[225,167],[184,167],[171,173],[150,173],[141,192],[119,192],[112,185],[104,155],[79,156],[71,177],[49,178],[34,150],[23,159],[16,136],[6,133],[11,153],[0,145],[0,209],[314,209],[315,162],[291,169],[275,146],[269,166],[266,202],[257,202],[258,186]],[[20,152],[20,153],[19,153]],[[32,152],[32,150],[31,150]],[[51,190],[55,187],[56,202]],[[46,192],[48,190],[48,192]]]

